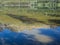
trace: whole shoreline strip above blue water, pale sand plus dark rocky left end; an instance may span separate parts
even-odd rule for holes
[[[14,32],[20,32],[23,30],[50,28],[50,25],[46,25],[46,24],[43,24],[43,25],[15,25],[15,24],[1,24],[0,23],[0,31],[4,30],[6,28],[11,31],[14,31]]]

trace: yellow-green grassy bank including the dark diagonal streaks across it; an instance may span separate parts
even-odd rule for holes
[[[20,0],[12,0],[12,2],[19,2],[19,1]],[[54,22],[52,22],[51,20]],[[48,16],[48,15],[46,16],[44,12],[41,11],[33,11],[19,7],[0,7],[0,22],[6,24],[16,24],[23,26],[24,25],[40,26],[42,24],[60,25],[59,21],[60,17]]]

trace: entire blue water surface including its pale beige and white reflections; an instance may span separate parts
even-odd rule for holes
[[[0,45],[60,45],[60,27],[0,32]]]

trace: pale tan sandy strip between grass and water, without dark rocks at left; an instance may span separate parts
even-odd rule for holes
[[[10,28],[12,31],[23,31],[23,30],[32,30],[32,29],[37,29],[37,28],[50,28],[49,25],[8,25],[8,28]]]

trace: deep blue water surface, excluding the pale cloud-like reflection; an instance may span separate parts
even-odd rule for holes
[[[36,30],[38,31],[38,35],[49,36],[54,41],[43,43],[36,40],[35,35],[24,32],[12,32],[9,29],[4,29],[0,32],[0,45],[60,45],[60,27]]]

